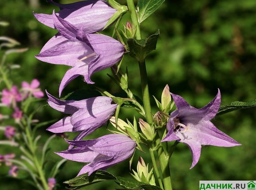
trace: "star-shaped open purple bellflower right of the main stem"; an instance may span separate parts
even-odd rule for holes
[[[233,147],[241,145],[210,122],[217,114],[221,104],[221,93],[206,106],[196,109],[181,96],[172,94],[177,110],[171,113],[167,123],[168,133],[162,141],[174,141],[188,145],[191,150],[193,168],[199,161],[202,145]],[[190,169],[191,169],[190,168]]]

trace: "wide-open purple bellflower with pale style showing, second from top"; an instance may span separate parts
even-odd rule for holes
[[[53,11],[53,21],[59,33],[52,37],[35,57],[52,64],[72,66],[64,75],[59,87],[63,88],[79,75],[86,83],[93,84],[93,73],[109,68],[121,60],[125,52],[122,43],[101,34],[86,34],[80,28],[63,20]]]

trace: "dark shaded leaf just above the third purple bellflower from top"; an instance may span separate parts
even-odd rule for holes
[[[81,90],[76,90],[72,93],[69,93],[67,96],[61,98],[61,100],[83,100],[87,98],[92,98],[92,97],[97,97],[101,96],[101,93],[99,93],[96,90],[92,89],[81,89]]]

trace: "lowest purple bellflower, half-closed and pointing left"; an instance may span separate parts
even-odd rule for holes
[[[136,148],[136,142],[122,134],[110,134],[92,140],[67,140],[67,142],[77,148],[59,152],[57,153],[59,156],[77,162],[89,163],[80,170],[78,176],[84,173],[90,175],[98,169],[106,170],[123,162],[133,155]]]

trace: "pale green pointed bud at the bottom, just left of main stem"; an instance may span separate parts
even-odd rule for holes
[[[145,164],[143,158],[139,157],[139,162],[137,164],[137,172],[133,170],[135,178],[139,182],[149,183],[151,185],[155,185],[155,178],[153,175],[153,168],[149,172],[149,164]]]

